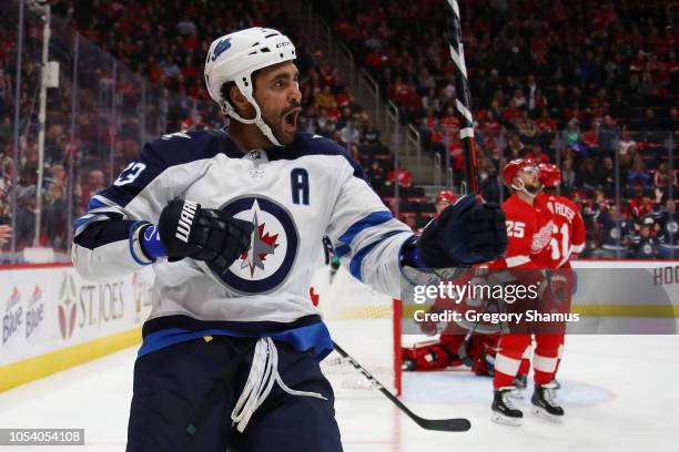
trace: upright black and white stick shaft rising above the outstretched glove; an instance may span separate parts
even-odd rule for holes
[[[465,64],[465,49],[462,40],[462,20],[457,0],[446,0],[446,31],[450,59],[457,66],[455,76],[455,106],[460,122],[459,138],[465,155],[465,175],[468,193],[478,192],[476,176],[476,144],[474,142],[474,116],[472,115],[472,93]]]

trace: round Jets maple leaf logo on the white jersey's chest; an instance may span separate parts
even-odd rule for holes
[[[291,214],[264,196],[242,197],[222,210],[254,226],[250,249],[223,275],[214,274],[240,294],[265,294],[283,284],[297,256],[300,236]]]

